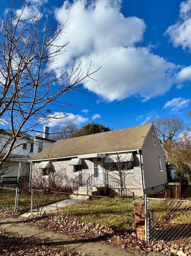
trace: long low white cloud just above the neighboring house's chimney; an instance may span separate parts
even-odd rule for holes
[[[42,120],[41,123],[43,125],[47,125],[49,127],[53,127],[54,125],[63,125],[65,123],[75,123],[80,125],[82,123],[86,123],[88,118],[84,118],[81,115],[74,115],[73,113],[62,113],[55,112],[50,116],[48,120]]]

